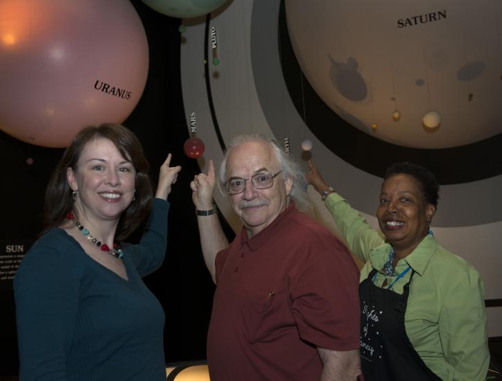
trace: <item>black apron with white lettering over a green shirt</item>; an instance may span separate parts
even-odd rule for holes
[[[359,285],[361,366],[365,381],[441,380],[419,357],[404,328],[404,312],[415,272],[401,295],[374,285],[375,274],[373,269]]]

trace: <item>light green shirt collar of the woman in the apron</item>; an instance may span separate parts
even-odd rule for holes
[[[427,269],[427,265],[431,261],[431,258],[438,246],[435,238],[431,236],[426,236],[422,242],[408,255],[406,258],[406,263],[415,270],[420,276],[424,274]],[[370,262],[374,269],[377,269],[383,274],[383,265],[385,265],[388,255],[390,253],[390,245],[385,243],[379,247],[375,247],[370,251]]]

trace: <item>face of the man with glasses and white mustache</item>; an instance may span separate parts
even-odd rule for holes
[[[249,179],[257,173],[275,174],[279,161],[269,145],[261,141],[250,141],[233,148],[227,158],[227,181],[235,177]],[[242,193],[230,195],[230,204],[244,224],[248,237],[252,238],[268,227],[288,206],[291,179],[279,174],[270,188],[257,189],[252,181],[245,181]]]

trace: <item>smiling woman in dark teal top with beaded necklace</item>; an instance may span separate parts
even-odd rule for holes
[[[45,233],[14,281],[21,380],[166,380],[164,311],[141,276],[164,260],[167,196],[181,169],[170,161],[153,200],[148,163],[125,127],[87,127],[64,152],[46,191]],[[150,209],[139,245],[116,245]]]

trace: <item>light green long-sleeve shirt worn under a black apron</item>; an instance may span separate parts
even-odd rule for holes
[[[381,233],[337,193],[325,201],[336,226],[352,252],[365,263],[360,281],[372,269],[378,270],[375,284],[397,276],[386,276],[383,265],[390,245]],[[442,380],[485,380],[490,364],[483,279],[462,258],[444,249],[435,238],[426,236],[406,258],[399,260],[400,274],[410,266],[415,270],[410,286],[404,326],[413,348],[425,364]],[[392,290],[402,294],[411,272]]]

